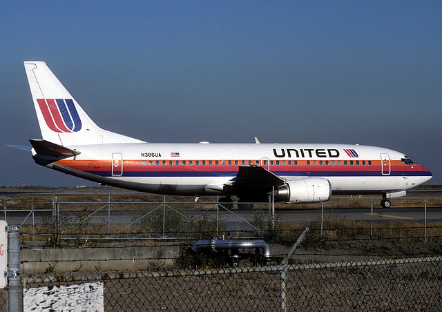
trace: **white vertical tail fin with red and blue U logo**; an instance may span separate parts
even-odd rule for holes
[[[61,146],[142,142],[99,128],[46,63],[25,61],[24,65],[44,140]]]

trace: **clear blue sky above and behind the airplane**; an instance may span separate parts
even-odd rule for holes
[[[0,186],[96,185],[5,144],[41,138],[23,61],[148,142],[383,146],[442,184],[440,1],[3,1]]]

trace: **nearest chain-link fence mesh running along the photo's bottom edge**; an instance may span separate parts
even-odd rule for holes
[[[23,277],[25,289],[102,282],[105,311],[281,311],[283,266]],[[288,311],[439,311],[442,258],[291,265]],[[26,295],[26,290],[25,290]]]

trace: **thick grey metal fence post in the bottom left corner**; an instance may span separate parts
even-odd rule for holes
[[[8,232],[8,309],[21,311],[20,232],[18,226],[6,226]]]

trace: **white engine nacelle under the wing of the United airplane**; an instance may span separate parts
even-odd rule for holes
[[[306,177],[289,181],[276,191],[276,199],[281,202],[327,202],[332,196],[332,185],[321,177]]]

